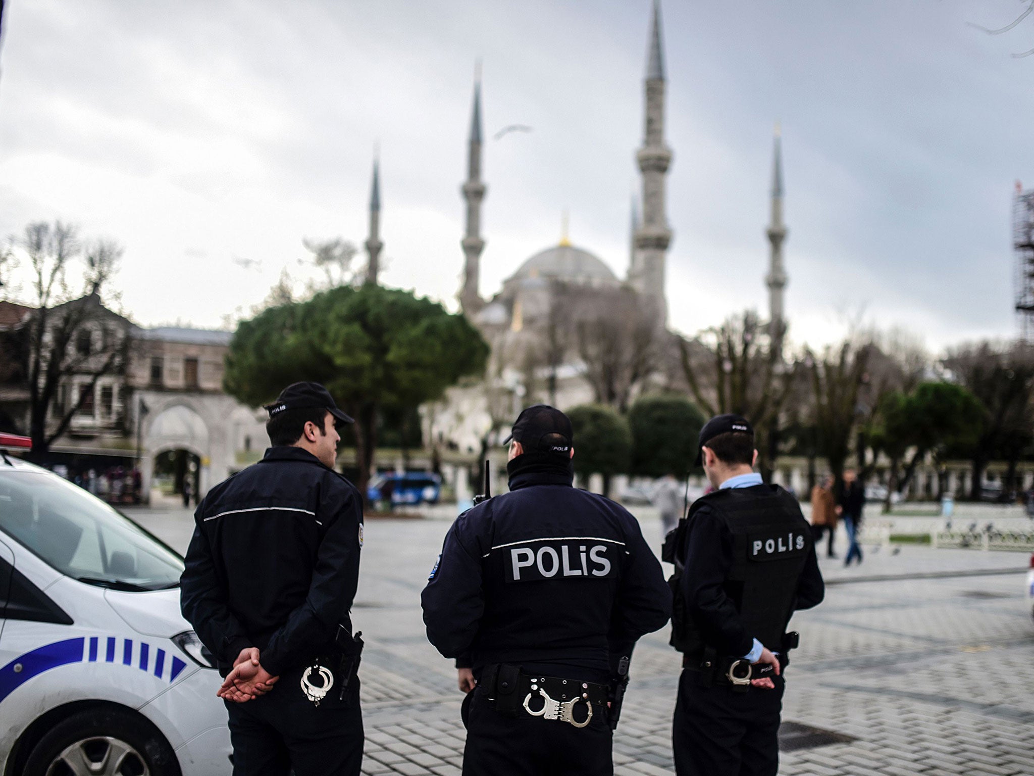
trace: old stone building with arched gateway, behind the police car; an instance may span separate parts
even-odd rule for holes
[[[49,432],[59,436],[44,462],[69,477],[90,470],[103,475],[139,469],[147,499],[155,459],[164,453],[188,459],[199,495],[257,459],[268,442],[265,413],[222,390],[231,332],[142,328],[104,308],[96,298],[69,304],[90,305],[91,311],[72,332],[73,368],[58,386],[47,419]],[[14,334],[26,336],[26,324],[34,312],[30,307],[0,304],[0,348]],[[118,365],[97,377],[99,362],[122,345],[124,357]],[[8,361],[11,368],[0,375],[0,422],[5,426],[0,430],[28,434],[31,353],[24,341],[18,352],[21,367]],[[62,429],[60,423],[69,413]]]

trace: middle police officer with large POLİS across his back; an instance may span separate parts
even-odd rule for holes
[[[456,519],[422,597],[468,691],[463,773],[612,774],[608,703],[636,640],[668,621],[670,590],[636,519],[572,487],[562,412],[527,408],[506,442],[510,493]]]

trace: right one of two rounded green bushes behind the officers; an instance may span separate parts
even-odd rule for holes
[[[632,474],[683,479],[697,454],[704,417],[688,398],[645,396],[629,411]]]

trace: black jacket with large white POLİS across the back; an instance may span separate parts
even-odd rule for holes
[[[510,493],[453,524],[422,595],[427,637],[476,674],[517,663],[606,681],[668,621],[671,593],[635,517],[548,460],[515,458]]]

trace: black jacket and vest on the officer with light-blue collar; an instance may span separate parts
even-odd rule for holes
[[[679,531],[687,654],[708,646],[742,657],[755,638],[779,652],[793,611],[822,602],[809,525],[797,500],[778,485],[708,494],[694,502]]]

